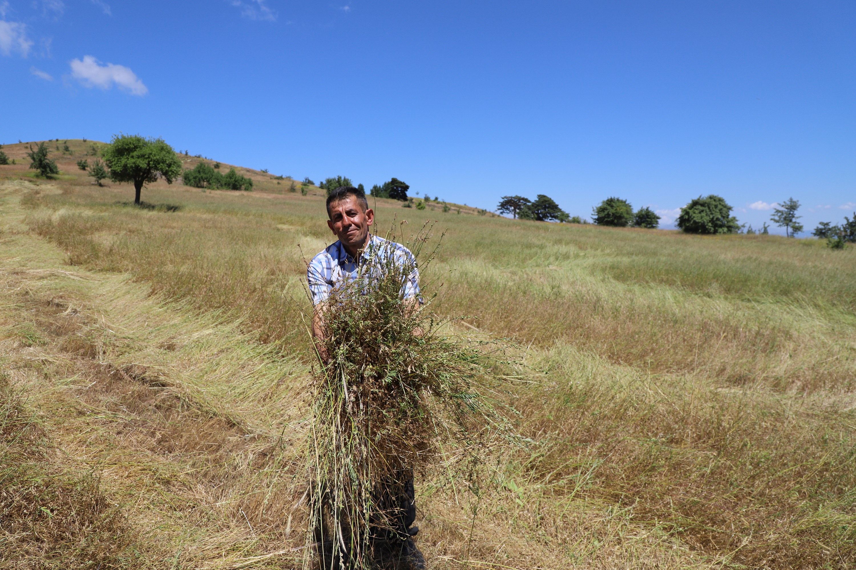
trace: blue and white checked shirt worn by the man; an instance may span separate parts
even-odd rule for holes
[[[328,245],[324,251],[312,258],[309,269],[306,271],[306,280],[309,282],[309,292],[312,294],[312,304],[317,305],[330,297],[330,291],[341,284],[345,279],[354,280],[357,277],[360,265],[371,263],[374,256],[395,256],[396,263],[413,265],[413,272],[407,276],[403,287],[405,299],[419,297],[419,270],[413,259],[413,254],[401,244],[378,238],[369,234],[369,243],[360,254],[358,263],[348,254],[342,242]],[[371,275],[371,271],[364,275]]]

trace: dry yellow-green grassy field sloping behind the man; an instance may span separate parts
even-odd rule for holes
[[[299,566],[322,192],[239,169],[137,208],[91,144],[52,180],[3,148],[0,561]],[[856,251],[429,208],[377,200],[378,231],[437,220],[434,309],[526,347],[535,442],[419,479],[432,568],[856,564]]]

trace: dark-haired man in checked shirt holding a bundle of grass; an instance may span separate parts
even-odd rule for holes
[[[391,255],[395,263],[400,264],[398,267],[413,267],[413,272],[405,279],[402,293],[414,309],[419,306],[419,272],[415,269],[413,254],[401,244],[369,233],[369,228],[374,224],[374,211],[368,205],[366,193],[353,186],[336,188],[327,197],[327,226],[339,240],[313,257],[306,272],[312,304],[315,306],[312,336],[318,354],[324,361],[329,355],[320,341],[323,340],[324,312],[331,292],[346,280],[356,279],[358,273],[371,279],[371,264],[381,261],[380,257]],[[363,269],[361,272],[360,268]],[[375,499],[388,514],[388,520],[372,532],[377,549],[384,550],[377,555],[383,558],[394,555],[398,559],[394,562],[395,567],[423,570],[425,561],[413,543],[419,528],[411,528],[416,520],[413,474],[401,473],[397,479],[376,482]]]

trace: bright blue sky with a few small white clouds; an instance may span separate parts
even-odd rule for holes
[[[163,137],[494,209],[856,209],[856,3],[0,0],[0,143]],[[805,235],[805,234],[804,234]]]

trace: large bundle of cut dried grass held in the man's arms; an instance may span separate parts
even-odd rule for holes
[[[430,235],[424,226],[405,242],[413,257],[381,242],[324,304],[307,451],[307,537],[320,548],[306,551],[325,568],[398,567],[396,497],[412,495],[413,470],[484,455],[510,433],[499,379],[484,366],[502,347],[454,335],[425,291],[407,297],[416,260],[424,271],[437,252],[423,255]]]

